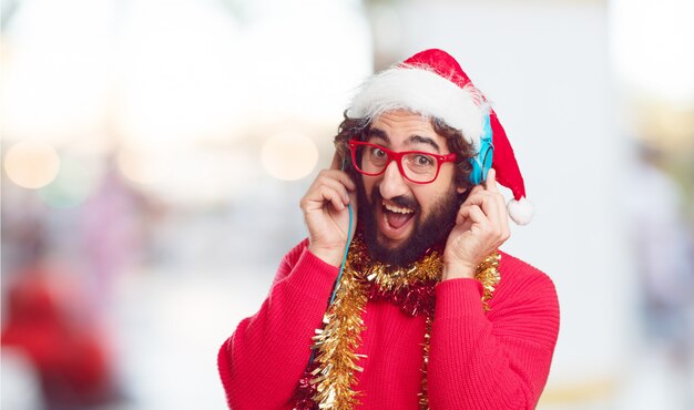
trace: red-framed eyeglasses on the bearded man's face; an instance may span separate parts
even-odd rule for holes
[[[384,146],[361,141],[349,141],[351,162],[364,175],[377,176],[382,174],[388,164],[395,161],[400,174],[416,184],[429,184],[439,176],[441,165],[455,162],[456,153],[438,155],[422,151],[395,152]]]

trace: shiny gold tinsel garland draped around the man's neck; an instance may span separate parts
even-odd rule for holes
[[[489,255],[478,267],[476,278],[482,283],[482,307],[489,310],[489,300],[499,284],[498,253]],[[422,382],[419,393],[421,409],[428,409],[427,366],[429,340],[433,322],[433,286],[441,278],[441,254],[431,250],[409,268],[395,269],[389,265],[370,260],[366,246],[358,235],[351,243],[349,254],[337,285],[335,299],[323,318],[323,329],[314,336],[315,359],[310,376],[302,382],[302,389],[313,394],[313,402],[319,409],[350,410],[358,403],[359,392],[351,387],[356,382],[357,365],[366,356],[356,351],[365,329],[361,319],[369,299],[381,298],[399,303],[404,311],[411,316],[426,316],[426,334],[422,344]],[[410,297],[410,296],[415,297]],[[306,399],[298,394],[296,408],[305,408]],[[310,401],[310,400],[309,400]],[[312,406],[313,407],[313,406]]]

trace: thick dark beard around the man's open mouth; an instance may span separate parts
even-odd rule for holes
[[[376,222],[376,207],[382,206],[382,197],[374,187],[371,201],[368,201],[360,178],[358,180],[359,221],[364,226],[364,240],[372,259],[396,268],[404,268],[420,259],[435,246],[443,248],[446,239],[456,225],[456,215],[467,195],[459,195],[455,186],[433,205],[427,216],[421,215],[421,206],[414,198],[397,196],[390,201],[399,206],[415,211],[415,227],[410,236],[399,246],[390,247],[379,239]],[[466,192],[467,193],[467,192]]]

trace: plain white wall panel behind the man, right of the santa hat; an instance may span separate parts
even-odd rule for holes
[[[390,53],[449,51],[513,144],[537,215],[504,249],[545,270],[561,304],[548,391],[616,381],[634,314],[619,223],[626,140],[614,121],[606,6],[439,1],[395,13],[401,48]]]

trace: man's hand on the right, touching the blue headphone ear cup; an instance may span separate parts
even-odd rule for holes
[[[442,279],[473,278],[477,266],[510,235],[506,201],[492,168],[484,185],[474,186],[458,209],[446,242]]]

